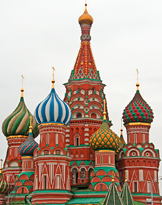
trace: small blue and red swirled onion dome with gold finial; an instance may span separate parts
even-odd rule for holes
[[[32,126],[29,126],[29,136],[27,140],[19,147],[19,153],[21,156],[33,156],[35,148],[38,147],[38,143],[34,141],[32,134]]]

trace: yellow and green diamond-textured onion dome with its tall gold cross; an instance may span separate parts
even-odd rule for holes
[[[111,149],[117,151],[121,147],[119,137],[109,128],[106,120],[105,100],[104,100],[104,117],[101,127],[90,138],[90,147],[94,150]]]

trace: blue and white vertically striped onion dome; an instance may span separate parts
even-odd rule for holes
[[[50,94],[36,107],[35,120],[41,123],[62,123],[67,125],[71,120],[71,110],[56,94],[54,88]]]

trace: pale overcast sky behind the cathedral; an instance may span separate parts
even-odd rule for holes
[[[19,103],[24,75],[24,99],[34,113],[51,89],[61,99],[80,48],[78,18],[84,0],[0,1],[0,124]],[[140,92],[154,112],[150,142],[162,158],[162,1],[88,0],[94,23],[91,48],[105,87],[111,129],[120,135],[122,112]],[[124,137],[126,132],[124,128]],[[7,141],[0,132],[0,158]],[[39,141],[39,137],[37,138]],[[162,176],[162,164],[159,169]],[[162,194],[162,181],[160,183]]]

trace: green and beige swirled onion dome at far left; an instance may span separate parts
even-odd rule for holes
[[[27,109],[23,91],[21,89],[21,98],[17,108],[4,120],[2,124],[3,134],[8,137],[10,135],[25,135],[29,134],[30,116],[33,115]],[[35,120],[33,120],[33,136],[37,137],[39,134],[38,126]]]

